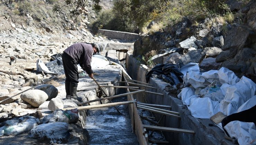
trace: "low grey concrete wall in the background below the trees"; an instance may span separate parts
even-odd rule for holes
[[[139,38],[139,35],[136,33],[120,32],[120,31],[111,31],[99,29],[98,34],[101,33],[104,36],[107,36],[109,39],[119,39],[119,40],[136,40]]]

